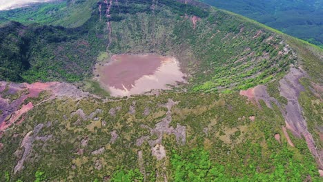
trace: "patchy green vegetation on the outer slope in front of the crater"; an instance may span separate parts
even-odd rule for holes
[[[186,142],[179,145],[174,134],[163,134],[161,145],[166,157],[158,161],[147,141],[142,145],[136,143],[141,136],[156,139],[148,128],[155,128],[166,117],[163,105],[168,99],[180,101],[171,109],[170,125],[186,126]],[[134,102],[135,114],[130,114]],[[165,176],[169,181],[188,178],[192,179],[188,181],[293,181],[304,180],[308,175],[318,181],[316,164],[305,141],[292,138],[295,148],[287,144],[283,134],[281,144],[276,141],[274,135],[281,132],[284,119],[277,107],[271,110],[261,104],[262,108],[258,108],[235,93],[161,93],[158,97],[137,96],[108,102],[90,98],[55,99],[38,105],[21,125],[3,134],[0,171],[10,172],[13,181],[35,181],[37,176],[33,174],[57,181],[159,181]],[[117,107],[119,110],[110,114]],[[147,108],[148,115],[144,114]],[[73,114],[79,109],[92,117],[83,119]],[[248,116],[255,116],[255,121]],[[13,174],[23,154],[20,143],[37,125],[43,125],[37,134],[43,139],[35,138],[29,162]],[[207,133],[204,128],[208,128]],[[110,132],[114,130],[118,137],[111,143]],[[12,138],[12,134],[18,136]],[[84,139],[88,144],[81,144]],[[102,147],[104,152],[92,153]]]

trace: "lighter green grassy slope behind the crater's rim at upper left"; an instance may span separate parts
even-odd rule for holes
[[[39,3],[37,6],[0,11],[0,24],[7,21],[18,21],[24,24],[41,23],[45,25],[75,28],[82,26],[90,19],[96,0],[59,1]]]

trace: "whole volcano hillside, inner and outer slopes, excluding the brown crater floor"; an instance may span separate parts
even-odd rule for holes
[[[68,2],[43,7],[88,5]],[[1,26],[0,181],[322,181],[321,48],[197,1],[91,6]],[[187,83],[118,98],[92,79],[146,53]]]

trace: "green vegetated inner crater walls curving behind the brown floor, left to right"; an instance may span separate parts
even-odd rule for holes
[[[101,15],[95,7],[92,17],[79,28],[39,24],[24,27],[19,23],[13,28],[12,23],[0,28],[6,37],[3,48],[8,49],[1,59],[5,66],[0,69],[6,69],[5,75],[0,74],[2,79],[89,79],[95,61],[106,59],[102,52],[107,45],[108,54],[155,52],[177,57],[183,70],[191,75],[190,84],[184,87],[194,92],[251,88],[277,78],[295,62],[281,35],[222,10],[177,1],[157,5],[118,1],[112,3],[107,19],[106,5],[99,3]],[[156,8],[152,10],[152,6]],[[78,6],[66,5],[72,10],[74,7]],[[193,15],[198,17],[195,25]],[[111,34],[106,21],[111,21]],[[24,33],[19,33],[22,30]],[[21,39],[22,43],[12,43],[12,39]],[[20,54],[26,56],[18,57]]]

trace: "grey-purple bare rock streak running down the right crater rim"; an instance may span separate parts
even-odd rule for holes
[[[323,168],[322,156],[320,156],[319,152],[316,150],[315,141],[312,134],[307,129],[307,123],[302,114],[302,107],[298,102],[300,92],[304,91],[304,87],[299,81],[302,77],[308,77],[304,70],[301,68],[291,68],[290,72],[280,80],[280,95],[287,99],[287,104],[284,105],[284,107],[282,107],[275,98],[269,96],[265,85],[257,85],[255,88],[241,90],[240,94],[248,97],[251,101],[256,101],[256,103],[258,103],[259,100],[263,100],[268,108],[272,108],[271,103],[275,103],[282,112],[286,128],[291,130],[291,132],[299,138],[304,136],[309,150],[313,156],[315,156],[320,168]],[[291,139],[289,139],[286,128],[282,126],[284,135],[286,136],[289,145],[294,146]]]

